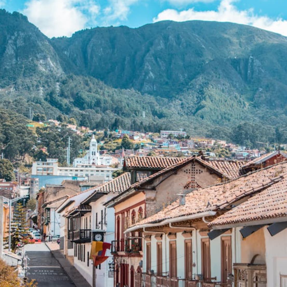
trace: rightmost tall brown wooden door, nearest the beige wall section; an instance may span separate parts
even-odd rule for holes
[[[230,283],[227,280],[232,273],[231,236],[221,237],[221,282]]]

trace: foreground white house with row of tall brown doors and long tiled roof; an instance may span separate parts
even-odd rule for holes
[[[286,286],[286,175],[282,162],[180,192],[157,213],[131,222],[123,233],[144,238],[143,269],[128,286]],[[172,191],[175,185],[165,188]]]

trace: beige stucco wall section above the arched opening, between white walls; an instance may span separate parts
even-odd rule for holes
[[[258,254],[254,263],[264,264],[265,260],[265,237],[264,229],[261,228],[243,239],[241,242],[241,262],[250,263],[253,256]]]

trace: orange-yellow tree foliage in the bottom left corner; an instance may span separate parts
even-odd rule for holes
[[[36,287],[35,280],[21,282],[14,268],[0,259],[0,282],[3,287]]]

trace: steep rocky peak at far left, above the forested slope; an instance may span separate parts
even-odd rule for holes
[[[57,53],[38,28],[22,14],[0,10],[0,76],[10,83],[37,73],[59,75],[63,72]]]

